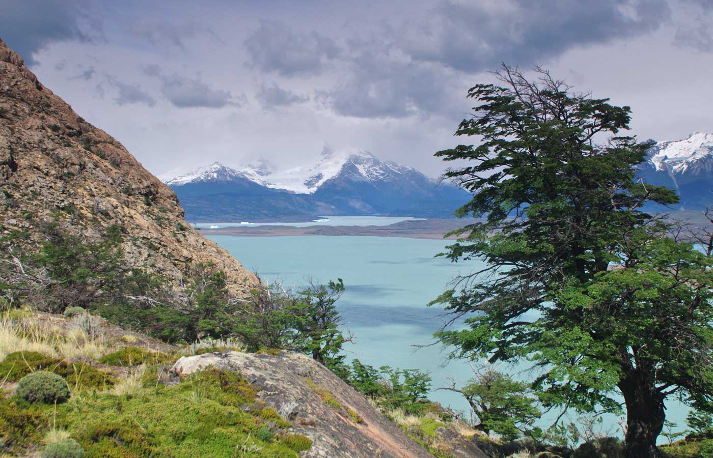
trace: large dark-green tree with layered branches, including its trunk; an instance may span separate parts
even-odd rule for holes
[[[650,144],[616,136],[630,108],[534,70],[471,88],[480,105],[456,135],[481,144],[436,153],[469,161],[445,177],[476,218],[444,255],[486,262],[434,301],[466,323],[436,336],[453,357],[531,363],[548,408],[617,412],[623,397],[627,456],[660,457],[667,397],[712,407],[711,259],[642,211],[677,196],[637,181]]]

